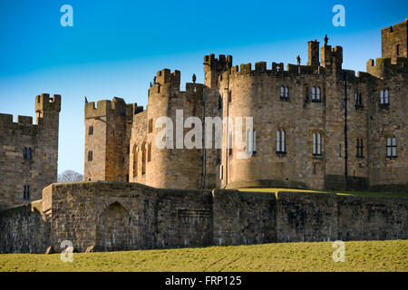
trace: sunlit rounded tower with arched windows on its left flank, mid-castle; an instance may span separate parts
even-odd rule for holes
[[[187,149],[184,136],[191,129],[183,128],[189,117],[201,118],[203,84],[186,83],[180,92],[180,72],[163,69],[156,75],[156,83],[149,90],[147,111],[138,113],[131,136],[131,182],[139,182],[160,189],[199,189],[202,160],[200,149]],[[180,121],[177,119],[181,114]],[[166,140],[169,146],[160,148],[164,127],[157,121],[169,118]],[[180,133],[180,134],[179,134]]]

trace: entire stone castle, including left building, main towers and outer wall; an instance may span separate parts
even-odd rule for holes
[[[119,98],[86,102],[83,182],[53,183],[59,95],[36,97],[36,125],[0,115],[0,253],[61,252],[66,242],[83,252],[407,239],[408,198],[237,190],[406,192],[407,34],[408,20],[384,28],[383,57],[357,76],[342,68],[340,46],[315,40],[307,65],[286,71],[206,55],[204,84],[193,78],[185,92],[180,72],[162,70],[146,110]],[[253,117],[242,130],[251,155],[238,158],[228,122],[220,148],[212,138],[205,149],[160,149],[157,120],[177,123],[179,110],[199,120]]]

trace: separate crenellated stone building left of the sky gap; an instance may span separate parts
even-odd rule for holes
[[[18,116],[13,122],[12,115],[0,114],[0,208],[39,199],[57,180],[61,96],[36,96],[35,111],[36,124],[32,117]],[[29,197],[24,198],[24,187]]]

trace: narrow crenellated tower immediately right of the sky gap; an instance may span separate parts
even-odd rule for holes
[[[136,104],[120,98],[103,100],[95,108],[85,103],[85,159],[83,178],[86,181],[129,181],[131,122]]]

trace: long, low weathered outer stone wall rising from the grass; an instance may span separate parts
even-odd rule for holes
[[[17,219],[15,217],[18,217]],[[408,238],[408,198],[74,182],[0,211],[0,253]]]

